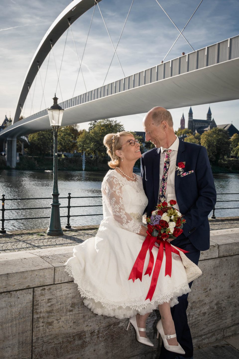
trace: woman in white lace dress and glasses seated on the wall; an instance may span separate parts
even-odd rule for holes
[[[66,270],[78,285],[85,306],[96,314],[129,318],[137,340],[153,346],[148,339],[146,321],[153,309],[159,309],[161,320],[157,323],[167,350],[185,354],[177,342],[170,307],[177,297],[189,293],[187,274],[181,257],[172,253],[172,275],[165,276],[165,252],[157,286],[152,300],[145,300],[152,278],[144,275],[142,281],[128,280],[135,259],[147,236],[142,215],[148,200],[142,178],[133,173],[133,166],[141,157],[139,142],[130,132],[107,134],[104,145],[113,170],[102,181],[104,219],[96,237],[77,245],[73,257],[66,262]],[[158,249],[153,247],[154,262]],[[144,271],[149,261],[145,259]]]

